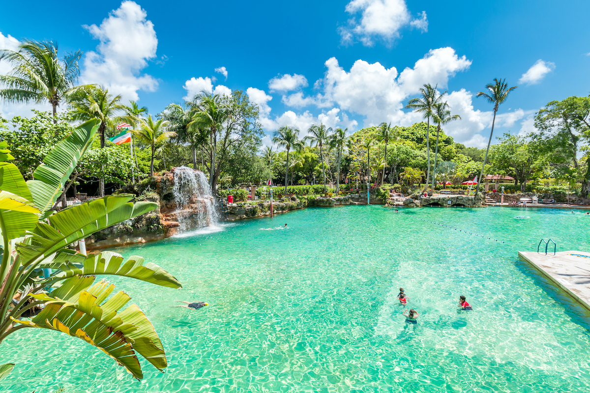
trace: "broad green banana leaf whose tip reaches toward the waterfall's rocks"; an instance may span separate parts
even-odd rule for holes
[[[130,194],[107,196],[62,210],[51,216],[49,223],[38,222],[27,241],[17,245],[22,266],[28,268],[21,274],[17,288],[44,258],[94,232],[147,213],[158,206],[153,202],[133,204],[129,202],[132,199],[133,195]]]

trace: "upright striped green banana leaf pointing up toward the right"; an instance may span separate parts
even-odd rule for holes
[[[61,195],[80,157],[92,143],[99,126],[100,120],[95,118],[74,128],[70,136],[55,145],[43,158],[43,163],[33,173],[34,180],[27,181],[42,218],[51,214],[51,207]]]

